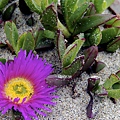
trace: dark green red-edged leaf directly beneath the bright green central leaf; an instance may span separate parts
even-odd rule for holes
[[[70,65],[62,68],[62,74],[74,75],[78,70],[81,70],[83,66],[84,56],[77,57]]]

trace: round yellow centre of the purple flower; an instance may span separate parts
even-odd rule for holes
[[[20,100],[18,103],[21,103],[24,98],[26,98],[25,102],[31,98],[34,93],[34,88],[30,81],[18,77],[9,80],[9,82],[5,84],[4,91],[7,98],[12,101],[15,98],[19,98]]]

